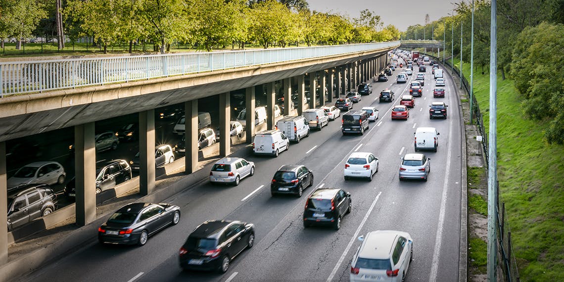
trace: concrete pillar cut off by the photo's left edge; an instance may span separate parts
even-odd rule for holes
[[[8,206],[6,142],[0,142],[0,206]],[[8,262],[8,214],[0,213],[0,265]]]

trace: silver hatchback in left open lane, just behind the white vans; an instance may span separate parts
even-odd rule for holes
[[[253,176],[254,162],[244,158],[226,157],[217,161],[210,172],[210,182],[239,185],[241,179]]]

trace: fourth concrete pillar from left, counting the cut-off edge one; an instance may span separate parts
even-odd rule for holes
[[[198,100],[184,102],[184,172],[198,170]]]

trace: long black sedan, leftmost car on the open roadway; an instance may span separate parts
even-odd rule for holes
[[[179,221],[179,206],[134,202],[118,209],[98,228],[98,241],[143,246],[149,236]]]

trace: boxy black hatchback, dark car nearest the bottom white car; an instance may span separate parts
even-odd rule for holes
[[[316,189],[307,197],[303,211],[303,227],[312,224],[341,228],[341,218],[351,212],[351,195],[342,189]]]

